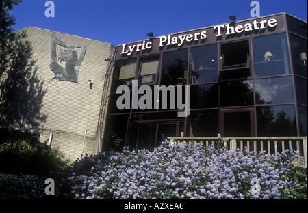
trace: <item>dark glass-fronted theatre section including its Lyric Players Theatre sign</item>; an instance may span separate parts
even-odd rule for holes
[[[281,13],[119,45],[106,117],[103,150],[307,136],[307,22]]]

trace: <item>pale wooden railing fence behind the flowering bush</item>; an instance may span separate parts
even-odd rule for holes
[[[307,167],[307,137],[224,137],[229,138],[224,141],[224,146],[229,150],[240,149],[247,147],[249,151],[266,151],[266,154],[281,153],[290,147],[299,152],[299,158],[294,160],[294,165],[298,167]],[[203,143],[205,146],[218,141],[216,137],[167,137],[172,144],[183,145],[184,141],[195,145]]]

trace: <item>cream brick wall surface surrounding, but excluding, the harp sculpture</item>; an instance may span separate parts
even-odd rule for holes
[[[63,151],[66,156],[75,160],[80,157],[86,133],[84,153],[94,152],[94,141],[97,132],[97,123],[105,72],[109,62],[104,61],[114,53],[114,46],[106,42],[90,40],[74,35],[26,27],[28,37],[34,49],[33,59],[36,63],[32,72],[36,75],[30,85],[28,93],[32,100],[27,100],[28,106],[36,105],[29,111],[31,116],[37,117],[36,122],[23,126],[32,132],[40,134],[40,141],[49,140],[53,133],[52,147]],[[51,35],[57,35],[66,44],[84,44],[87,48],[84,60],[79,68],[78,83],[68,81],[55,81],[50,79],[54,73],[49,68],[51,62]],[[77,51],[78,57],[81,49]],[[59,62],[60,63],[60,62]],[[65,62],[62,66],[65,66]],[[32,76],[33,77],[33,76]],[[94,83],[92,89],[88,79]],[[31,81],[31,79],[29,80]],[[31,87],[29,87],[31,88]],[[38,96],[38,94],[40,96]],[[16,94],[18,97],[18,93]],[[33,102],[33,104],[31,104]],[[15,119],[16,120],[16,119]],[[23,118],[21,118],[21,121]],[[18,128],[18,125],[15,128]]]

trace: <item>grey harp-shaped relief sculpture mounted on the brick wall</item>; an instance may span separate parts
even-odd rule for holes
[[[77,55],[77,48],[81,48],[80,56]],[[83,44],[65,44],[57,38],[57,35],[51,35],[51,63],[50,68],[55,76],[50,80],[56,81],[73,81],[78,83],[79,67],[84,55],[86,54],[86,46]],[[65,66],[62,67],[62,61],[65,61]]]

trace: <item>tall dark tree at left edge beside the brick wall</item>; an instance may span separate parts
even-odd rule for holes
[[[14,32],[11,11],[21,0],[0,0],[0,128],[34,128],[44,119],[40,103],[45,91],[36,76],[36,60],[26,31]]]

